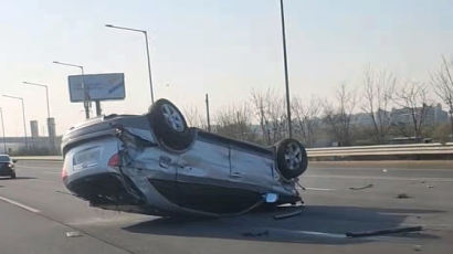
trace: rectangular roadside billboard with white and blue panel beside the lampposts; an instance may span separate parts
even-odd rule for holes
[[[89,100],[124,99],[126,97],[124,73],[71,75],[67,81],[72,103],[84,100],[82,78]]]

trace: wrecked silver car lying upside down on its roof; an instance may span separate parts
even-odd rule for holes
[[[167,99],[145,115],[109,115],[63,137],[62,178],[94,207],[154,215],[238,215],[302,201],[304,147],[272,147],[189,128]]]

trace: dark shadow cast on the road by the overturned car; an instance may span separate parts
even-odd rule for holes
[[[273,219],[275,214],[291,211],[294,211],[293,208],[278,208],[272,212],[256,211],[243,216],[215,220],[161,218],[127,226],[124,230],[143,234],[187,237],[351,244],[375,240],[370,237],[347,239],[344,236],[346,232],[398,227],[409,214],[443,212],[438,210],[310,205],[304,208],[301,215],[278,221]],[[400,236],[438,237],[424,233]]]

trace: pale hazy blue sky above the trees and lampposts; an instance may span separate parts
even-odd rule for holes
[[[61,1],[3,0],[0,9],[0,93],[23,96],[28,120],[45,124],[50,85],[57,133],[84,118],[69,102],[67,75],[124,72],[127,99],[106,114],[144,113],[150,103],[141,34],[148,30],[157,97],[202,112],[244,100],[252,88],[284,92],[278,0]],[[367,64],[400,78],[428,81],[442,54],[453,53],[453,1],[285,0],[293,95],[329,97],[341,82],[359,87]],[[0,97],[8,136],[23,130],[19,102]],[[44,131],[45,133],[45,131]],[[30,134],[30,133],[29,133]]]

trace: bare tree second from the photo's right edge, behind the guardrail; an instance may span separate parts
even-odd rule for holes
[[[409,121],[412,135],[415,139],[421,138],[426,110],[429,108],[426,86],[422,83],[407,82],[407,84],[396,93],[393,100],[402,108],[399,109],[398,116],[396,116],[400,119],[392,120],[397,125],[400,124],[400,126],[404,126],[405,123]],[[400,131],[403,133],[401,128]],[[405,134],[405,136],[409,136],[409,134]]]

